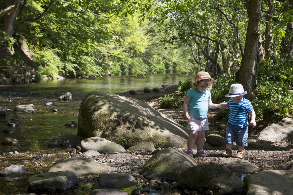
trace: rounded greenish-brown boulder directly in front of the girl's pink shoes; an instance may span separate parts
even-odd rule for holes
[[[180,172],[193,166],[197,166],[194,158],[173,148],[166,148],[157,152],[143,165],[142,175],[147,179],[160,177],[177,181]]]

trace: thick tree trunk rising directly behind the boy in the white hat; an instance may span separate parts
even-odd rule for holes
[[[244,54],[236,82],[243,85],[247,91],[246,98],[253,99],[253,89],[256,88],[255,67],[260,58],[262,48],[260,37],[260,20],[262,17],[261,0],[247,0],[248,26],[246,32]]]

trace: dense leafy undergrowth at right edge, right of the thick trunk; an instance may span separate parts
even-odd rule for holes
[[[269,59],[259,66],[254,101],[258,117],[269,120],[275,115],[277,121],[293,115],[292,69],[292,65],[285,65],[285,59],[281,58]]]

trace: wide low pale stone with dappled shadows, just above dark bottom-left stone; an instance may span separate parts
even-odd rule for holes
[[[98,175],[104,172],[114,172],[117,171],[117,169],[108,165],[97,163],[90,158],[79,156],[74,158],[65,158],[55,162],[49,169],[49,172],[54,171],[72,172],[77,177],[82,177],[88,175]]]

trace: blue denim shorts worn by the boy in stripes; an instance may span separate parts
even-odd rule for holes
[[[247,146],[246,140],[248,138],[248,126],[245,127],[243,125],[240,127],[238,125],[232,125],[230,122],[228,122],[226,127],[225,144],[233,144],[235,136],[237,146]]]

